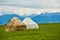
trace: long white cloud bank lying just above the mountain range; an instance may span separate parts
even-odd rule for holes
[[[59,9],[35,9],[35,8],[22,8],[22,7],[14,7],[14,6],[0,6],[0,14],[18,14],[29,16],[32,14],[41,14],[42,12],[60,12]],[[1,16],[0,15],[0,16]]]

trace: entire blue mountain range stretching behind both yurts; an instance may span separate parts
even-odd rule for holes
[[[18,17],[20,20],[24,20],[26,17],[30,17],[36,23],[58,23],[60,22],[60,12],[44,12],[39,15],[32,14],[30,16],[20,16],[17,14],[6,14],[0,16],[0,24],[6,24],[13,18]]]

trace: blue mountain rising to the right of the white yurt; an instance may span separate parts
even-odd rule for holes
[[[60,12],[45,12],[31,18],[37,23],[58,23],[60,22]]]

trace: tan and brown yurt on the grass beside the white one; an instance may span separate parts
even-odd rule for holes
[[[6,25],[6,31],[25,30],[26,25],[17,17],[13,17]]]

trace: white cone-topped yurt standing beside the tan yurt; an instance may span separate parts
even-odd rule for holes
[[[39,28],[38,24],[36,22],[34,22],[31,18],[26,17],[23,20],[23,23],[25,23],[26,25],[26,29],[34,29],[34,28]]]

